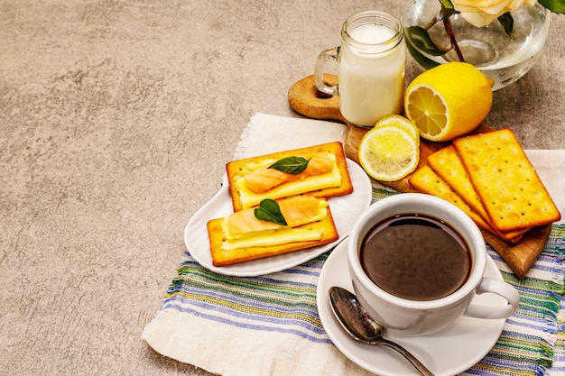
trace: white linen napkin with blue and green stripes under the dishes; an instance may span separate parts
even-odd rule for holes
[[[343,124],[256,114],[242,134],[234,158],[324,142],[343,142],[346,129]],[[527,151],[527,154],[563,215],[565,150]],[[560,239],[561,234],[558,235]],[[320,325],[315,289],[325,258],[327,255],[322,255],[289,271],[267,276],[236,278],[199,266],[190,257],[189,246],[162,309],[145,326],[142,339],[158,353],[223,376],[371,375],[340,353]],[[559,271],[558,280],[555,280],[555,272],[547,271],[545,264],[536,271],[535,280],[555,283],[562,288],[560,261],[551,262],[555,263],[555,271]],[[536,289],[540,284],[535,282],[532,286]],[[523,309],[527,313],[528,307]],[[562,311],[560,316],[564,316]],[[532,338],[532,344],[528,342],[527,346],[544,342],[544,346],[555,348],[556,354],[560,347],[565,348],[563,341],[560,346],[555,344],[561,338],[556,335],[557,317],[548,318],[540,328],[530,326],[533,321],[528,321],[527,316],[521,317],[526,318],[512,324],[509,332],[509,342],[517,348],[523,347],[523,338]],[[515,340],[514,333],[518,334]],[[543,362],[551,359],[550,352],[539,356]],[[498,356],[488,359],[476,371],[485,371],[491,366],[510,370],[508,367],[513,365],[512,362],[499,363],[502,358]],[[547,365],[540,365],[539,359],[524,357],[523,362],[532,365],[536,374],[547,371]],[[523,367],[519,362],[514,365]]]

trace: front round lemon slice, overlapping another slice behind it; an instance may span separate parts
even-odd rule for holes
[[[373,179],[403,179],[418,167],[420,142],[396,125],[375,126],[359,143],[359,162]]]

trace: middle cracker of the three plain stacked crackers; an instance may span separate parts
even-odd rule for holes
[[[452,188],[458,195],[467,202],[478,216],[486,222],[487,227],[481,225],[475,218],[477,225],[485,228],[489,232],[496,234],[500,238],[509,242],[516,242],[520,239],[521,235],[528,229],[510,231],[506,233],[497,232],[490,225],[490,217],[486,213],[485,206],[481,198],[478,196],[477,191],[473,187],[471,179],[469,179],[467,170],[463,166],[463,162],[459,158],[458,152],[453,145],[449,145],[439,151],[434,152],[428,157],[428,164],[431,168],[443,179],[449,187]],[[472,217],[472,216],[471,216]]]

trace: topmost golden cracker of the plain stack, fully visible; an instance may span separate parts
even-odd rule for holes
[[[453,145],[496,231],[560,220],[559,209],[511,130],[460,137]]]

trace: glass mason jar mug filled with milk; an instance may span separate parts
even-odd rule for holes
[[[324,82],[326,61],[338,61],[338,86]],[[347,19],[341,45],[320,53],[316,87],[339,96],[341,115],[351,124],[371,127],[403,111],[406,50],[403,27],[393,15],[366,11]]]

